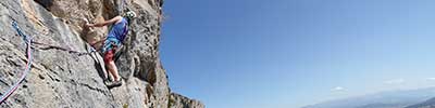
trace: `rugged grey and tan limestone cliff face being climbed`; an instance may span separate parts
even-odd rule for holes
[[[90,55],[35,45],[29,75],[0,107],[203,108],[169,87],[159,58],[162,4],[162,0],[0,0],[0,93],[17,81],[28,60],[13,21],[34,41],[87,52],[86,43],[103,39],[108,28],[85,29],[85,21],[101,22],[127,9],[138,14],[116,60],[122,86],[108,89],[107,75]]]

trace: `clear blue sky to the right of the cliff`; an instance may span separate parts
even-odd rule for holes
[[[165,0],[161,58],[207,108],[435,85],[434,0]]]

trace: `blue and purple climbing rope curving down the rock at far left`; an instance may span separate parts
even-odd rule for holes
[[[12,85],[12,87],[9,89],[9,91],[7,91],[5,94],[1,95],[1,97],[0,97],[0,104],[2,104],[9,96],[11,96],[12,93],[16,91],[16,89],[18,89],[20,84],[21,84],[21,83],[24,81],[24,79],[27,77],[27,75],[28,75],[28,72],[29,72],[29,70],[30,70],[30,66],[32,66],[32,58],[33,58],[33,56],[32,56],[32,48],[30,48],[30,45],[32,45],[32,38],[23,33],[23,31],[22,31],[22,30],[20,29],[20,27],[17,26],[16,22],[12,22],[12,26],[15,28],[16,32],[17,32],[21,37],[23,37],[23,40],[24,40],[24,41],[26,42],[26,44],[27,44],[27,50],[26,50],[26,52],[27,52],[27,65],[26,65],[26,68],[24,69],[24,71],[23,71],[23,73],[22,73],[20,80],[18,80],[14,85]]]

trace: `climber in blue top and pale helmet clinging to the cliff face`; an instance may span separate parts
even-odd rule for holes
[[[124,16],[115,16],[112,19],[101,23],[86,24],[86,27],[103,27],[112,25],[112,28],[110,29],[108,37],[105,38],[104,43],[100,50],[103,54],[105,68],[107,70],[109,70],[108,75],[111,75],[113,78],[113,81],[104,79],[104,84],[109,87],[122,85],[122,78],[117,72],[117,67],[113,60],[113,56],[116,52],[116,48],[122,45],[123,40],[127,36],[128,24],[135,17],[136,13],[133,11],[128,11]]]

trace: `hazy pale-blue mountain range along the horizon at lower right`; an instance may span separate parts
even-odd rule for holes
[[[420,108],[407,106],[425,102],[431,97],[435,97],[435,87],[380,92],[345,99],[328,100],[301,108]],[[435,99],[431,103],[435,105]]]

